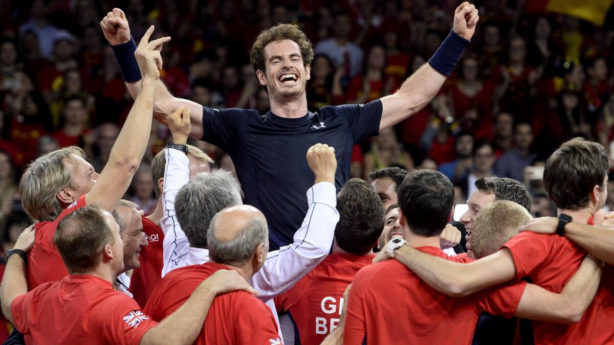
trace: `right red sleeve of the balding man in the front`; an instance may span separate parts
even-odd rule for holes
[[[238,344],[281,344],[273,312],[257,298],[242,293],[243,303],[235,309],[235,337]]]

